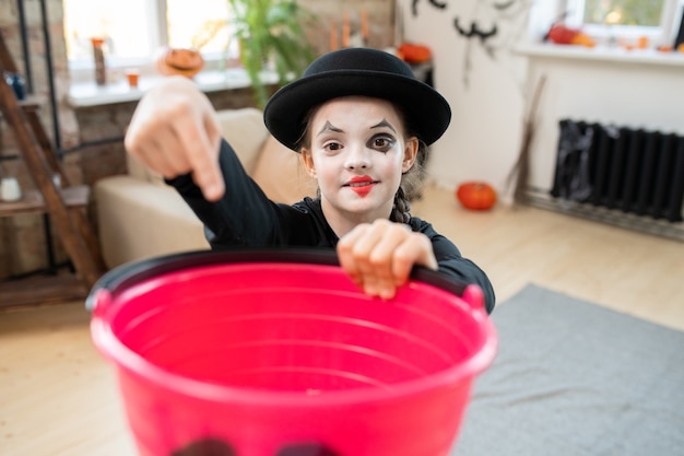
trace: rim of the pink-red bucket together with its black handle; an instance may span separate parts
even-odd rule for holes
[[[266,407],[273,404],[283,407],[302,405],[302,394],[284,390],[264,390],[245,388],[234,385],[207,383],[189,378],[157,366],[118,339],[110,320],[126,301],[126,293],[134,288],[153,283],[156,278],[196,268],[222,267],[225,265],[281,265],[312,266],[316,268],[337,268],[339,261],[333,252],[309,249],[235,249],[229,252],[190,252],[174,254],[120,266],[107,272],[93,287],[86,300],[86,306],[93,312],[91,332],[96,348],[110,361],[118,365],[122,375],[134,375],[160,385],[162,388],[181,395],[194,396],[205,401],[239,404],[245,407]],[[473,318],[474,324],[484,334],[482,346],[463,362],[421,378],[408,379],[392,385],[389,389],[353,388],[327,391],[316,400],[307,400],[305,407],[320,410],[326,407],[363,404],[367,401],[393,400],[399,397],[421,395],[425,391],[453,385],[474,377],[492,363],[496,350],[497,338],[494,325],[483,305],[482,291],[476,285],[459,285],[447,280],[439,273],[424,268],[414,268],[408,285],[427,285],[438,293],[460,296],[456,305],[462,306],[463,313]],[[362,293],[362,292],[359,292]],[[363,293],[362,293],[363,294]],[[417,305],[417,304],[416,304]]]

